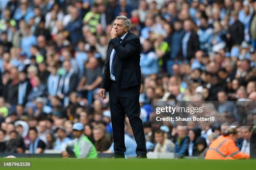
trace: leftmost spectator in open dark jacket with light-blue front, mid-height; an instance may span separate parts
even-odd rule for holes
[[[18,104],[25,105],[29,92],[32,89],[32,85],[30,84],[26,72],[19,72],[19,87],[18,87]]]

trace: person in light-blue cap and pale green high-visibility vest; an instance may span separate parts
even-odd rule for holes
[[[82,123],[73,125],[74,140],[61,145],[63,158],[68,158],[70,154],[67,152],[67,147],[74,147],[74,155],[76,158],[97,158],[97,150],[92,142],[84,135],[84,126]]]

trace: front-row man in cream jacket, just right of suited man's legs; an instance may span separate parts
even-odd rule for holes
[[[175,144],[172,140],[166,139],[164,137],[164,130],[156,130],[154,133],[156,146],[154,148],[154,153],[169,153],[174,152]]]

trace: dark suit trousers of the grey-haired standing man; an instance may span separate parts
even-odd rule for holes
[[[115,154],[123,154],[126,150],[124,140],[125,113],[137,143],[136,154],[147,153],[143,124],[140,118],[139,91],[140,87],[138,86],[119,90],[117,83],[110,80],[109,99]]]

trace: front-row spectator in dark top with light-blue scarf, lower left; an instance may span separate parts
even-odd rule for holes
[[[36,128],[30,128],[28,131],[28,138],[31,140],[28,149],[25,153],[43,153],[46,148],[46,144],[38,137],[38,131]]]

